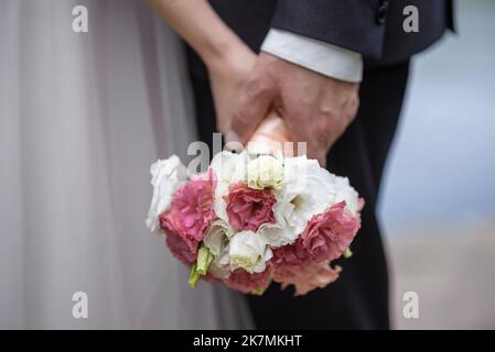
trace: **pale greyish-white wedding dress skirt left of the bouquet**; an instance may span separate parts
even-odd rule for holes
[[[0,328],[250,328],[144,227],[150,164],[195,139],[172,31],[139,0],[0,0]]]

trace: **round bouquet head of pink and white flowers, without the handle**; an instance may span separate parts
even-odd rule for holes
[[[191,267],[189,283],[219,280],[262,294],[272,280],[305,295],[334,282],[361,227],[362,199],[348,179],[305,156],[220,152],[187,178],[177,156],[151,166],[147,220]]]

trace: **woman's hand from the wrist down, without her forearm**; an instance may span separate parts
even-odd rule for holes
[[[244,43],[230,43],[218,57],[206,63],[215,102],[217,129],[225,133],[230,125],[233,102],[243,88],[257,55]]]

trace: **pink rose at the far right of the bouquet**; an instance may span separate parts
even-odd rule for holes
[[[359,230],[359,217],[354,217],[344,208],[345,201],[341,201],[314,216],[301,234],[302,244],[314,261],[340,257]]]

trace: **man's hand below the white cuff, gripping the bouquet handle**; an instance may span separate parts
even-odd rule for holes
[[[270,108],[282,116],[294,142],[325,164],[326,153],[354,119],[358,84],[320,75],[261,53],[234,102],[227,140],[246,143]]]

